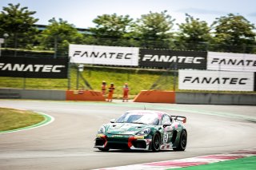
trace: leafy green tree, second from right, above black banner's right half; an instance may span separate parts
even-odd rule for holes
[[[207,50],[211,41],[210,27],[205,21],[200,21],[186,14],[186,22],[178,24],[178,45],[184,49]]]

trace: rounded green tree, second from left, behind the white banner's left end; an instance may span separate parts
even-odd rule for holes
[[[69,44],[82,44],[83,36],[73,25],[61,18],[58,21],[52,18],[49,22],[50,25],[42,31],[38,38],[43,49],[54,50],[57,48],[58,51],[62,51],[62,53],[58,53],[59,55],[66,55]]]

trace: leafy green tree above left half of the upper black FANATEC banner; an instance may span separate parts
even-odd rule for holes
[[[166,14],[167,11],[161,13],[143,14],[136,22],[135,32],[142,42],[142,46],[149,48],[168,48],[169,38],[172,37],[170,30],[174,26],[174,19]]]

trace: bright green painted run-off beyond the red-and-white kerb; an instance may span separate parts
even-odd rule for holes
[[[170,168],[170,170],[173,168]],[[256,169],[256,156],[244,157],[238,160],[226,160],[218,163],[203,164],[193,167],[182,168],[182,170],[216,170],[216,169],[232,169],[232,170],[254,170]],[[168,169],[169,170],[169,169]]]

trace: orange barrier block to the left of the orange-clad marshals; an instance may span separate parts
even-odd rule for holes
[[[67,90],[66,101],[106,101],[102,93],[92,90]]]

